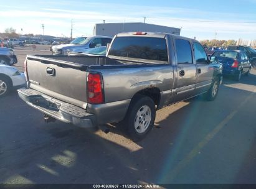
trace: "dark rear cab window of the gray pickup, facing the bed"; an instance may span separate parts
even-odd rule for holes
[[[116,37],[108,56],[155,63],[168,63],[166,39],[158,37]]]

